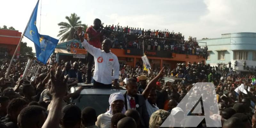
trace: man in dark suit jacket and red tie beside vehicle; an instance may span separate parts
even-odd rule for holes
[[[124,93],[125,109],[135,109],[140,113],[140,127],[148,128],[149,116],[143,95],[138,94],[138,84],[136,79],[130,78],[126,83],[127,91]]]

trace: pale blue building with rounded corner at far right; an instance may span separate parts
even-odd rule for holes
[[[221,34],[220,38],[197,41],[207,43],[209,54],[206,60],[207,64],[218,66],[219,63],[220,67],[226,67],[231,62],[231,67],[238,72],[255,71],[256,33],[227,33]],[[199,44],[204,45],[203,43]]]

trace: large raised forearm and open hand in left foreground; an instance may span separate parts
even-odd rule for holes
[[[52,107],[49,110],[49,115],[47,116],[42,128],[58,128],[60,124],[60,114],[61,114],[61,103],[64,99],[67,89],[68,76],[64,79],[65,71],[57,68],[56,75],[54,76],[53,69],[50,71],[52,87],[50,93],[52,94]]]

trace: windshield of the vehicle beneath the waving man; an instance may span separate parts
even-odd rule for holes
[[[76,105],[83,110],[85,107],[92,107],[96,110],[97,116],[107,112],[109,109],[108,94],[81,94],[75,102]]]

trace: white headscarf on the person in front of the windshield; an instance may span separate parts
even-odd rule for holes
[[[124,95],[121,92],[118,93],[113,93],[109,96],[108,102],[109,102],[109,110],[105,113],[109,113],[112,115],[112,109],[111,109],[111,104],[116,101],[116,100],[123,100],[124,101]],[[125,113],[125,107],[122,110],[122,113]]]

